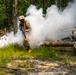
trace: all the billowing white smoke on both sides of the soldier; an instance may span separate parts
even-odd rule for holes
[[[69,3],[63,11],[59,10],[56,5],[52,5],[47,8],[46,16],[43,17],[43,9],[37,9],[36,6],[31,5],[26,13],[26,15],[29,15],[25,17],[32,27],[32,31],[26,33],[30,46],[34,48],[44,40],[57,41],[62,38],[70,37],[72,30],[76,27],[75,7],[76,0],[74,0],[73,3]],[[0,47],[5,44],[22,44],[21,42],[23,42],[23,35],[20,31],[16,36],[14,36],[13,33],[9,33],[6,38],[6,41],[0,39]]]

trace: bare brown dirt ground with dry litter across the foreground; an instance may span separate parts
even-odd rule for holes
[[[76,62],[12,60],[0,75],[76,75]]]

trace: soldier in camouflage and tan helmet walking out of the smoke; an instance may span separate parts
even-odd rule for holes
[[[26,32],[31,31],[30,23],[27,20],[25,20],[24,16],[20,16],[19,20],[20,20],[19,28],[20,28],[20,30],[22,31],[22,33],[25,37],[23,44],[26,47],[26,50],[28,52],[31,52],[30,44],[28,43],[28,40],[26,38]]]

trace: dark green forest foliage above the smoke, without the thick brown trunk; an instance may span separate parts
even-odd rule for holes
[[[35,1],[35,2],[33,2]],[[44,3],[43,3],[44,1]],[[52,4],[56,4],[58,7],[64,9],[69,1],[73,0],[18,0],[18,15],[25,15],[27,8],[31,4],[35,4],[38,8],[43,8],[44,5],[44,13],[46,12],[47,7],[51,6]],[[33,2],[33,3],[32,3]],[[10,17],[12,14],[12,0],[7,0],[7,15],[5,14],[4,8],[4,0],[0,0],[0,29],[4,27],[9,27],[12,25]],[[6,21],[7,20],[7,21]],[[5,22],[6,21],[6,22]],[[10,25],[11,24],[11,25]]]

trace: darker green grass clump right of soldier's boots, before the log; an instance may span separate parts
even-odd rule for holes
[[[37,59],[43,60],[55,60],[57,59],[57,54],[54,49],[48,49],[47,47],[36,48],[31,52],[31,55]]]

